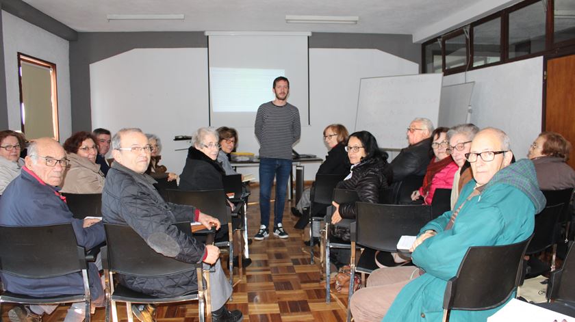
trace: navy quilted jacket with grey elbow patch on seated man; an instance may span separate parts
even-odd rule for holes
[[[153,183],[155,180],[147,174],[112,163],[102,191],[103,222],[131,226],[159,254],[186,263],[200,263],[205,246],[172,226],[186,220],[193,222],[196,209],[164,202]],[[120,283],[129,289],[158,297],[198,289],[195,270],[161,278],[119,277]]]

